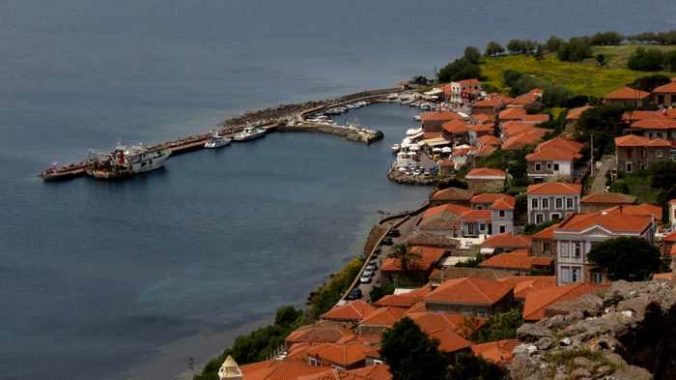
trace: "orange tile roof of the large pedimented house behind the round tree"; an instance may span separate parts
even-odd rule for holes
[[[653,217],[644,215],[623,215],[595,212],[592,214],[572,214],[564,219],[554,234],[558,232],[583,232],[596,226],[612,233],[641,233],[652,225]]]

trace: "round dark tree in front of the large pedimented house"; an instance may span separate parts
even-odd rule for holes
[[[657,248],[638,237],[618,237],[603,241],[589,251],[587,258],[605,271],[612,281],[647,280],[662,263]]]

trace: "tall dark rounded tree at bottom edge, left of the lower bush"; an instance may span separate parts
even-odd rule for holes
[[[448,363],[438,345],[405,317],[383,333],[380,355],[393,380],[443,380]]]

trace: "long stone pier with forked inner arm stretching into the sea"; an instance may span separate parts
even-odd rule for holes
[[[225,120],[219,124],[219,126],[216,128],[216,132],[218,132],[221,136],[231,138],[236,133],[243,130],[246,126],[253,125],[255,127],[266,129],[268,133],[274,131],[326,133],[342,136],[349,141],[370,144],[374,141],[382,139],[382,132],[371,131],[365,128],[342,127],[336,125],[312,123],[308,122],[306,118],[308,115],[320,113],[324,110],[333,107],[339,107],[349,103],[359,101],[377,102],[383,100],[384,96],[392,93],[399,93],[401,91],[403,91],[402,87],[368,90],[335,99],[281,105],[260,111],[248,112],[241,116]],[[213,132],[205,132],[150,145],[147,146],[147,148],[151,152],[162,149],[170,149],[172,155],[179,155],[182,153],[204,149],[204,143],[212,135]],[[60,167],[47,168],[40,172],[39,176],[44,181],[64,181],[86,176],[86,169],[87,162],[80,161]]]

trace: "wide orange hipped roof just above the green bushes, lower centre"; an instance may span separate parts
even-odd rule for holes
[[[512,286],[478,277],[447,280],[425,297],[426,303],[493,305],[512,291]]]

